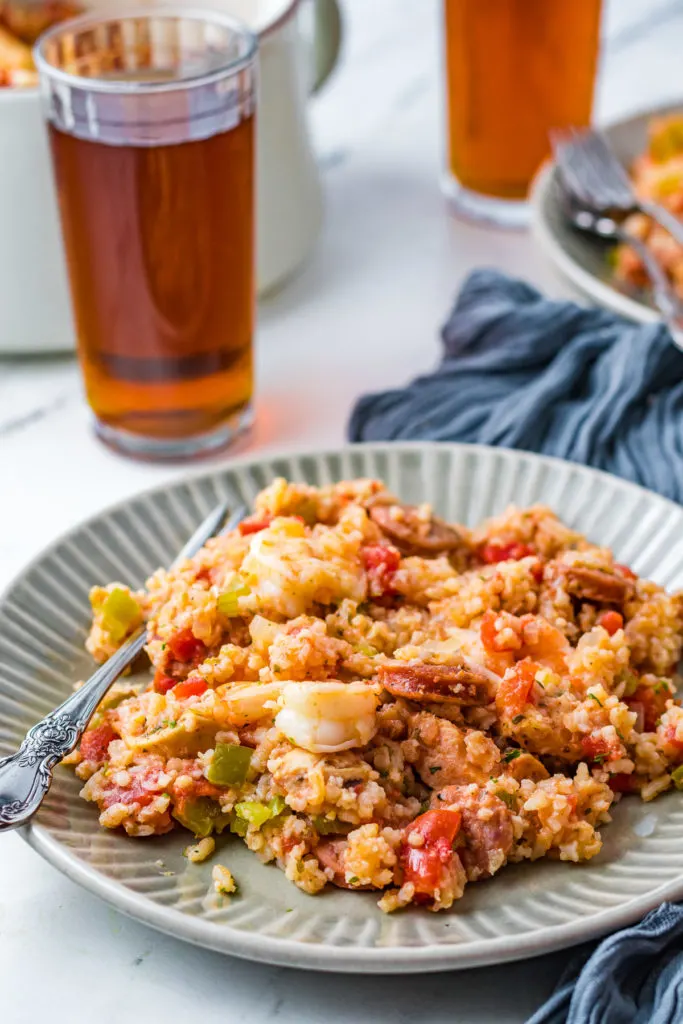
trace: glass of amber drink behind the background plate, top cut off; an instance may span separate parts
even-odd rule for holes
[[[443,0],[446,167],[456,209],[522,225],[552,128],[588,125],[601,0]]]

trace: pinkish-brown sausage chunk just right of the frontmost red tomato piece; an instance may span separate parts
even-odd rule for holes
[[[507,805],[487,790],[449,785],[432,798],[433,807],[450,807],[463,816],[458,847],[470,882],[487,879],[506,862],[512,842],[512,815]]]

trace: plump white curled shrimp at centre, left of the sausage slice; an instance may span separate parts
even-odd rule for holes
[[[336,754],[377,732],[379,687],[364,682],[285,683],[275,725],[296,746]]]

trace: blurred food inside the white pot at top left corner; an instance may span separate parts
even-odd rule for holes
[[[62,0],[0,0],[0,87],[37,85],[31,47],[50,26],[82,10]]]

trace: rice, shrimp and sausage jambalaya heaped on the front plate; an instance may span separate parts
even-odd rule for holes
[[[234,833],[304,892],[440,910],[506,864],[590,859],[623,795],[683,787],[681,595],[542,506],[469,529],[380,481],[280,479],[91,603],[93,656],[144,620],[154,674],[68,761],[103,826],[185,828],[188,859]]]

